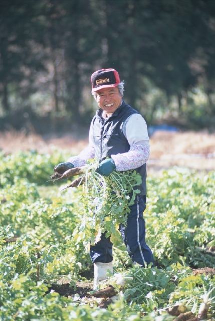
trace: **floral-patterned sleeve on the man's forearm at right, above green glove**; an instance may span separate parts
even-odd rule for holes
[[[111,155],[118,172],[136,169],[148,161],[150,149],[148,145],[132,144],[128,152]]]

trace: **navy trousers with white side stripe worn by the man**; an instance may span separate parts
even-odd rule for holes
[[[131,212],[128,215],[127,226],[120,225],[119,227],[128,255],[133,262],[142,266],[147,266],[150,262],[154,264],[153,254],[145,243],[145,220],[143,218],[143,212],[146,208],[145,202],[145,196],[137,196],[135,204],[129,207]],[[112,246],[110,237],[106,238],[105,233],[103,233],[101,240],[90,247],[92,262],[111,262],[113,260]]]

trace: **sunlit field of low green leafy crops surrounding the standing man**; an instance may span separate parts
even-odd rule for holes
[[[144,218],[156,267],[132,266],[115,237],[114,272],[126,286],[109,274],[100,288],[111,284],[119,295],[104,309],[91,295],[92,263],[80,237],[82,186],[60,192],[66,180],[47,182],[68,156],[0,153],[0,319],[162,321],[176,317],[166,311],[175,305],[183,320],[214,318],[215,173],[174,167],[148,177]]]

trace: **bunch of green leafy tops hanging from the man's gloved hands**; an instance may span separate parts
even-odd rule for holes
[[[136,186],[141,184],[141,176],[136,171],[116,172],[103,177],[96,172],[98,162],[88,162],[80,203],[82,222],[77,229],[79,242],[84,240],[86,250],[90,243],[99,241],[101,233],[111,235],[112,242],[118,234],[119,224],[126,224],[129,206],[134,204]]]

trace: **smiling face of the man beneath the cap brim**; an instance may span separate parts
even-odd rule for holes
[[[99,107],[108,115],[114,113],[114,111],[121,105],[122,95],[120,95],[117,87],[103,88],[97,90],[96,93],[96,100]]]

